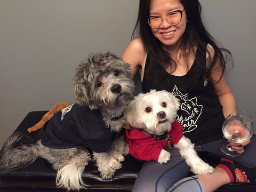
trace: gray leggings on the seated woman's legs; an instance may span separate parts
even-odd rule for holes
[[[256,135],[252,136],[251,143],[244,147],[245,152],[238,157],[229,157],[223,154],[219,149],[222,141],[226,140],[219,139],[205,143],[201,146],[196,146],[195,149],[196,151],[208,151],[219,157],[225,157],[243,165],[256,167]],[[171,161],[165,164],[159,164],[155,161],[145,162],[143,164],[138,178],[134,183],[132,192],[183,192],[188,191],[188,189],[189,191],[204,191],[203,185],[199,179],[196,177],[186,178],[190,173],[190,167],[180,156],[178,149],[172,147],[170,153]]]

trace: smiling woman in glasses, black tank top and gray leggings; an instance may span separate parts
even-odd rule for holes
[[[131,64],[133,75],[139,70],[142,91],[172,92],[181,101],[176,119],[196,150],[226,158],[221,159],[212,174],[186,178],[189,167],[172,148],[170,162],[143,164],[133,191],[214,191],[226,183],[242,181],[235,174],[236,168],[247,175],[243,181],[255,182],[251,169],[256,166],[251,156],[255,154],[255,135],[250,145],[250,140],[239,145],[227,141],[230,148],[242,154],[239,157],[230,159],[219,150],[225,140],[222,122],[236,109],[225,79],[226,60],[222,55],[225,52],[231,58],[231,53],[219,49],[206,31],[198,0],[141,0],[134,31],[137,27],[141,38],[130,43],[123,60]]]

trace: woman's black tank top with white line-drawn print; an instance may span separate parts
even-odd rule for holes
[[[195,145],[222,138],[221,126],[225,119],[218,96],[211,85],[206,84],[206,51],[202,50],[202,47],[197,47],[196,59],[186,75],[173,76],[164,71],[165,75],[159,77],[161,81],[157,84],[152,83],[150,74],[161,69],[154,66],[154,69],[148,71],[147,58],[142,81],[142,91],[145,93],[151,89],[166,90],[179,98],[181,106],[175,119],[183,126],[184,135]],[[204,61],[204,65],[201,65],[204,67],[199,67],[198,61]]]

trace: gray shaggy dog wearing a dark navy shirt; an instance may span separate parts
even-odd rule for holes
[[[121,131],[123,124],[126,123],[123,111],[127,103],[133,99],[134,94],[134,83],[132,81],[129,63],[125,63],[121,58],[109,52],[105,54],[92,54],[78,66],[74,80],[76,103],[57,113],[60,113],[61,121],[65,118],[69,118],[70,111],[74,110],[75,106],[79,109],[78,111],[89,109],[88,111],[90,113],[93,113],[93,111],[97,109],[103,117],[102,122],[105,122],[105,124],[103,123],[105,126],[104,129],[107,130],[108,133]],[[57,114],[55,114],[50,121],[45,123],[41,132],[44,129],[48,129],[48,126],[51,125],[51,121],[53,121],[52,119],[58,116]],[[77,124],[83,122],[83,118],[86,115],[80,116],[82,115],[78,113],[76,117],[73,117],[81,118],[77,120]],[[63,127],[63,129],[59,129],[57,126],[54,127],[54,134],[60,135],[61,137],[65,132],[67,135],[69,133],[75,134],[76,131],[73,131],[73,129],[76,129],[76,127],[74,127],[76,125],[72,124],[72,126],[67,127],[70,122],[74,121],[73,118],[70,117],[64,122],[65,125],[63,126],[65,129]],[[90,118],[91,116],[89,116],[89,119]],[[88,120],[85,123],[87,122]],[[82,129],[85,128],[82,127]],[[89,130],[86,132],[89,134],[84,136],[85,139],[81,134],[77,136],[80,143],[86,143],[86,139],[89,140],[89,143],[92,137],[95,137],[95,133],[93,136],[90,135],[95,129],[94,124],[86,129]],[[61,131],[57,132],[58,130]],[[110,179],[115,171],[121,168],[122,165],[120,162],[124,161],[124,155],[129,154],[129,146],[124,141],[123,135],[116,137],[115,140],[113,140],[112,137],[110,141],[109,138],[104,138],[106,135],[105,132],[98,132],[97,135],[103,137],[98,139],[110,143],[110,150],[106,152],[98,152],[100,150],[95,151],[92,143],[89,143],[89,147],[93,150],[93,160],[98,166],[101,177]],[[24,134],[13,134],[4,143],[3,150],[1,150],[0,169],[7,171],[18,169],[34,162],[36,158],[42,157],[52,164],[54,170],[57,170],[56,184],[58,187],[66,188],[67,190],[79,190],[87,187],[82,180],[82,172],[85,166],[91,161],[91,155],[86,149],[88,146],[81,144],[79,146],[79,142],[75,140],[73,141],[74,143],[68,143],[68,145],[73,147],[61,148],[57,146],[56,148],[52,148],[47,146],[48,142],[53,142],[51,138],[47,138],[47,134],[44,138],[38,140],[36,144],[17,146],[17,142],[20,141],[22,137],[25,137]],[[71,135],[69,138],[71,138]],[[69,138],[67,138],[67,140]],[[85,141],[83,141],[83,139]],[[60,142],[62,143],[62,141]],[[66,140],[64,139],[63,143],[65,142]],[[42,143],[46,143],[46,145]],[[94,143],[97,145],[97,142]],[[103,147],[105,146],[104,143],[100,144]]]

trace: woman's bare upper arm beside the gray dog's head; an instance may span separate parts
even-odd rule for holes
[[[123,60],[130,63],[132,76],[134,76],[139,70],[141,74],[141,66],[145,59],[146,52],[143,48],[141,39],[134,39],[129,46],[126,48],[123,54]]]

